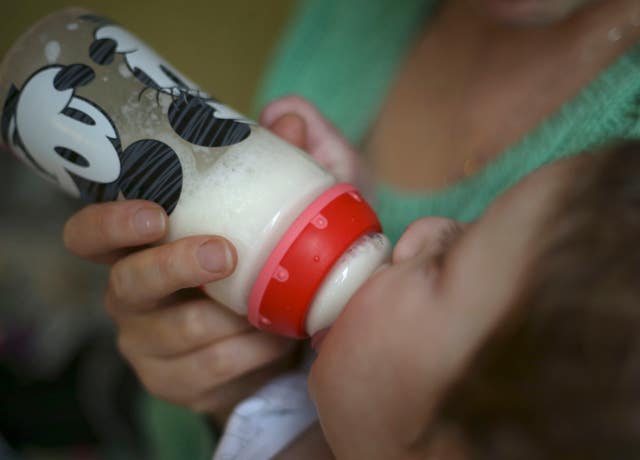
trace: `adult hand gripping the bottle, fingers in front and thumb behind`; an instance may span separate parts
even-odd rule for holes
[[[355,151],[303,99],[270,104],[261,123],[343,180],[359,180]],[[147,390],[223,424],[241,399],[295,365],[300,343],[256,331],[202,294],[198,286],[233,272],[235,250],[217,236],[161,244],[169,225],[152,202],[102,203],[73,215],[63,238],[70,252],[110,265],[105,306]]]

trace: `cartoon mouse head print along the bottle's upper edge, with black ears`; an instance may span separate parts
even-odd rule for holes
[[[95,17],[90,20],[97,21]],[[133,34],[115,24],[104,23],[89,46],[91,59],[100,65],[122,54],[131,73],[146,87],[174,98],[169,122],[184,140],[203,147],[222,147],[243,141],[253,123],[221,104],[171,67]]]

